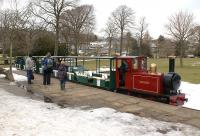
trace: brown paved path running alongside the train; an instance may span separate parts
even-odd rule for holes
[[[25,75],[23,71],[16,71]],[[20,84],[27,85],[25,82]],[[66,91],[60,91],[59,81],[52,78],[49,87],[42,85],[42,76],[35,75],[32,84],[35,94],[50,98],[63,107],[88,106],[89,108],[110,107],[121,112],[141,117],[150,117],[161,121],[178,122],[200,128],[200,111],[171,106],[133,96],[118,94],[98,88],[67,82]]]

